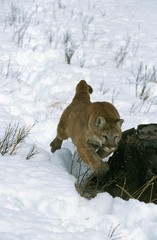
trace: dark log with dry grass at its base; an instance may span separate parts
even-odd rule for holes
[[[108,192],[125,200],[157,203],[157,124],[124,131],[108,163],[105,176],[92,174],[79,186],[82,196],[91,198]]]

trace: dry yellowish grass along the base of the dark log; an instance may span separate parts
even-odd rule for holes
[[[122,182],[122,186],[118,184],[118,182]],[[98,193],[101,192],[110,192],[112,186],[116,186],[116,196],[121,197],[125,200],[128,199],[137,199],[139,201],[144,201],[145,194],[147,195],[147,202],[156,202],[157,199],[153,198],[153,190],[155,190],[155,182],[157,181],[157,175],[153,176],[150,180],[148,180],[143,186],[137,189],[135,192],[130,192],[127,187],[127,177],[124,175],[119,175],[118,177],[112,179],[111,181],[106,181],[105,176],[97,177],[94,174],[90,176],[86,176],[86,172],[82,175],[82,179],[79,178],[79,182],[76,181],[76,189],[79,194],[87,199],[91,199],[95,197]],[[118,193],[118,194],[117,194]],[[112,193],[111,193],[112,194]]]

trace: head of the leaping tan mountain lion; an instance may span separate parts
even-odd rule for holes
[[[88,143],[92,144],[95,149],[103,149],[106,153],[105,156],[107,156],[117,148],[122,136],[121,126],[124,120],[119,118],[113,105],[108,105],[107,110],[99,112],[99,114],[97,116],[97,112],[92,113],[89,119],[88,126],[91,134]]]

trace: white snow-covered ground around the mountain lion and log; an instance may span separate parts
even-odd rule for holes
[[[0,139],[9,124],[35,124],[0,156],[0,240],[157,239],[155,204],[80,197],[75,147],[49,148],[81,79],[92,101],[115,104],[123,130],[157,122],[156,30],[156,0],[0,1]]]

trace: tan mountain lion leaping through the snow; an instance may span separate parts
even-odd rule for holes
[[[64,110],[57,136],[51,142],[51,151],[61,148],[62,141],[71,138],[80,158],[95,172],[107,171],[108,165],[102,161],[115,151],[121,139],[119,113],[108,102],[90,101],[92,88],[81,80],[76,86],[72,103]]]

